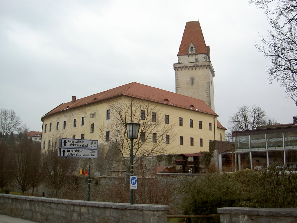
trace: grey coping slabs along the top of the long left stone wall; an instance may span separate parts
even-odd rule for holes
[[[129,203],[67,200],[67,199],[59,199],[59,198],[32,197],[32,196],[22,196],[22,195],[13,195],[13,194],[0,194],[0,198],[1,197],[7,197],[10,199],[23,199],[23,200],[29,200],[29,201],[31,200],[31,201],[40,201],[40,202],[50,202],[50,203],[57,203],[57,204],[99,207],[99,208],[117,208],[117,209],[145,210],[145,211],[168,211],[169,210],[169,206],[167,205],[149,205],[149,204],[131,205]]]

